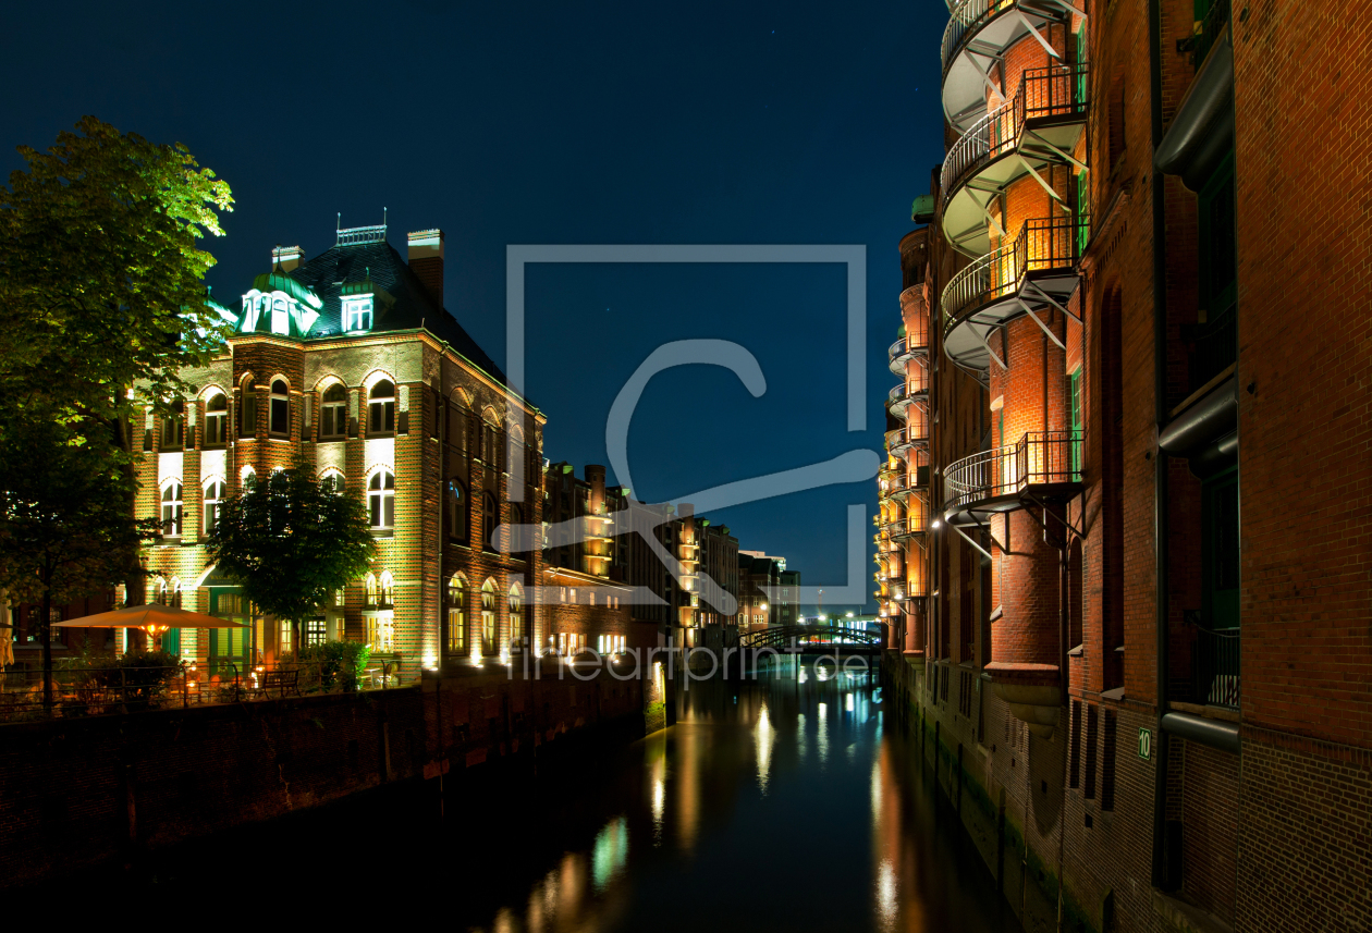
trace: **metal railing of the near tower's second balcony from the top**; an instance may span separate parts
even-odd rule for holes
[[[1014,97],[973,123],[948,150],[940,173],[944,203],[982,165],[1013,152],[1028,121],[1073,115],[1084,118],[1085,75],[1085,64],[1050,64],[1026,70]]]

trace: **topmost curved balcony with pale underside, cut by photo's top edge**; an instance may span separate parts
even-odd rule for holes
[[[963,0],[954,4],[943,36],[943,104],[948,122],[966,130],[986,106],[988,77],[1004,51],[1044,27],[1065,23],[1062,0]]]

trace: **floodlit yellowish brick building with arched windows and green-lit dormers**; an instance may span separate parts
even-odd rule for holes
[[[163,523],[145,597],[250,623],[199,643],[182,635],[182,656],[211,670],[294,648],[289,626],[247,605],[200,541],[217,501],[298,456],[366,502],[377,547],[372,572],[306,624],[306,642],[362,641],[413,672],[545,637],[530,598],[542,553],[495,534],[542,520],[545,417],[445,310],[442,231],[410,233],[407,261],[386,236],[384,225],[339,231],[310,261],[279,247],[224,311],[235,332],[222,354],[182,373],[193,391],[180,414],[133,425],[137,508]]]

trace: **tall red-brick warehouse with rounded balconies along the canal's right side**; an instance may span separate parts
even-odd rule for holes
[[[1368,118],[1335,78],[1368,56],[1280,3],[952,4],[884,671],[1029,930],[1372,928]]]

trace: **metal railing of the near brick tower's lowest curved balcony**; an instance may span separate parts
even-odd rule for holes
[[[1080,431],[1030,431],[1004,447],[965,457],[944,469],[944,502],[958,510],[1030,486],[1081,482]]]

